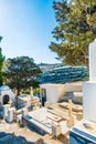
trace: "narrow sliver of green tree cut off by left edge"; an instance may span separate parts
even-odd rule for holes
[[[0,37],[0,42],[2,40],[2,37]],[[3,62],[4,62],[4,56],[2,55],[2,51],[0,48],[0,85],[3,84],[3,79],[2,79],[2,68],[3,68]]]

